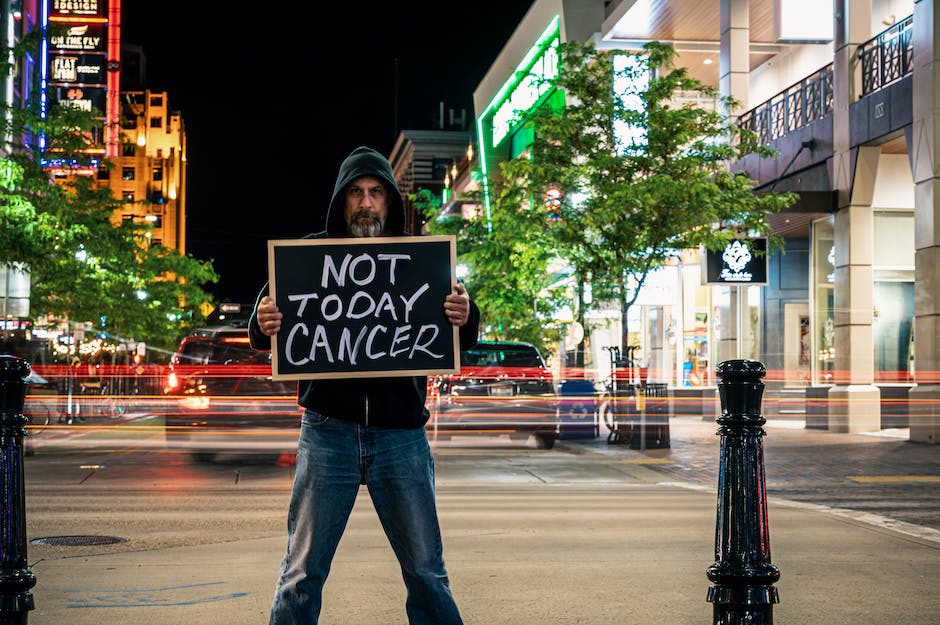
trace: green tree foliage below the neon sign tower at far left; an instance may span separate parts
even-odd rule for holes
[[[12,138],[0,158],[0,263],[29,272],[34,320],[100,330],[106,319],[112,336],[175,348],[186,326],[202,319],[199,305],[211,301],[203,288],[218,279],[211,263],[149,245],[148,225],[113,223],[124,201],[90,177],[53,179],[43,159],[87,162],[101,113],[57,106],[41,119],[36,101],[0,110],[3,135]]]

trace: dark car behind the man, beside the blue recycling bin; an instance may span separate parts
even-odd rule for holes
[[[480,341],[460,353],[460,373],[428,379],[431,432],[534,437],[551,449],[558,438],[558,392],[538,348]]]

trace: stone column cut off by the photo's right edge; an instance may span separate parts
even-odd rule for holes
[[[914,381],[910,440],[940,442],[940,19],[933,0],[914,2],[913,128],[908,153],[914,173]]]

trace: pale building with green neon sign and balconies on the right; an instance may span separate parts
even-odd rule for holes
[[[809,427],[903,423],[936,443],[938,19],[933,0],[536,0],[474,91],[481,166],[523,154],[524,111],[559,97],[533,80],[557,72],[553,41],[672,44],[678,66],[740,103],[729,118],[776,149],[732,168],[799,201],[773,216],[785,248],[765,283],[709,283],[698,250],[658,276],[631,320],[651,379],[708,404],[719,362],[757,359],[779,400],[765,412],[783,416],[789,398]],[[601,350],[619,342],[605,318],[619,313],[592,314],[601,377]]]

